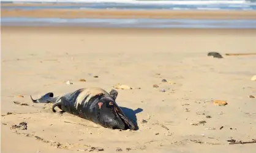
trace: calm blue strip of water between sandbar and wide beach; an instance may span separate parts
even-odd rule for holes
[[[256,20],[187,20],[187,19],[69,19],[1,18],[3,26],[84,26],[130,28],[253,28]]]

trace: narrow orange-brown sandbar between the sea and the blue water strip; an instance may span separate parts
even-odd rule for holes
[[[225,10],[6,10],[1,9],[2,17],[34,18],[151,18],[151,19],[213,19],[213,20],[256,20],[256,11]]]

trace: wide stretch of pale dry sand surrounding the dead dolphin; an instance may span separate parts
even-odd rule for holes
[[[207,56],[209,51],[255,52],[256,30],[1,30],[1,115],[23,113],[1,116],[4,153],[77,152],[89,146],[104,148],[102,152],[116,152],[116,148],[123,152],[130,148],[129,152],[186,153],[256,150],[256,144],[227,142],[231,137],[242,141],[256,138],[256,101],[249,98],[256,96],[256,82],[250,80],[255,75],[256,56]],[[176,84],[163,83],[162,79]],[[65,84],[67,80],[73,84]],[[141,88],[118,90],[117,98],[119,106],[137,113],[137,131],[105,129],[67,113],[56,116],[50,105],[32,104],[29,99],[29,95],[39,98],[49,91],[59,95],[84,87],[110,91],[118,83]],[[159,88],[153,88],[154,84]],[[162,88],[167,91],[160,92]],[[214,105],[212,99],[225,100],[228,105]],[[208,115],[211,118],[206,118]],[[141,123],[143,119],[147,123]],[[191,125],[198,121],[206,123]],[[28,123],[28,130],[15,133],[10,129],[21,122]],[[220,130],[221,126],[224,128]],[[205,130],[209,128],[215,130]],[[57,149],[51,141],[69,149]]]

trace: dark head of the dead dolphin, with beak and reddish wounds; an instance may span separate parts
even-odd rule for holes
[[[131,129],[136,127],[122,112],[115,100],[110,97],[101,98],[97,102],[97,119],[99,124],[111,129]]]

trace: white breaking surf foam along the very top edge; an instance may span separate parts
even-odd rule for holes
[[[126,4],[179,4],[179,5],[204,5],[204,4],[246,4],[244,0],[237,1],[137,1],[137,0],[1,0],[1,2],[15,2],[15,3],[28,3],[28,2],[116,2]]]

